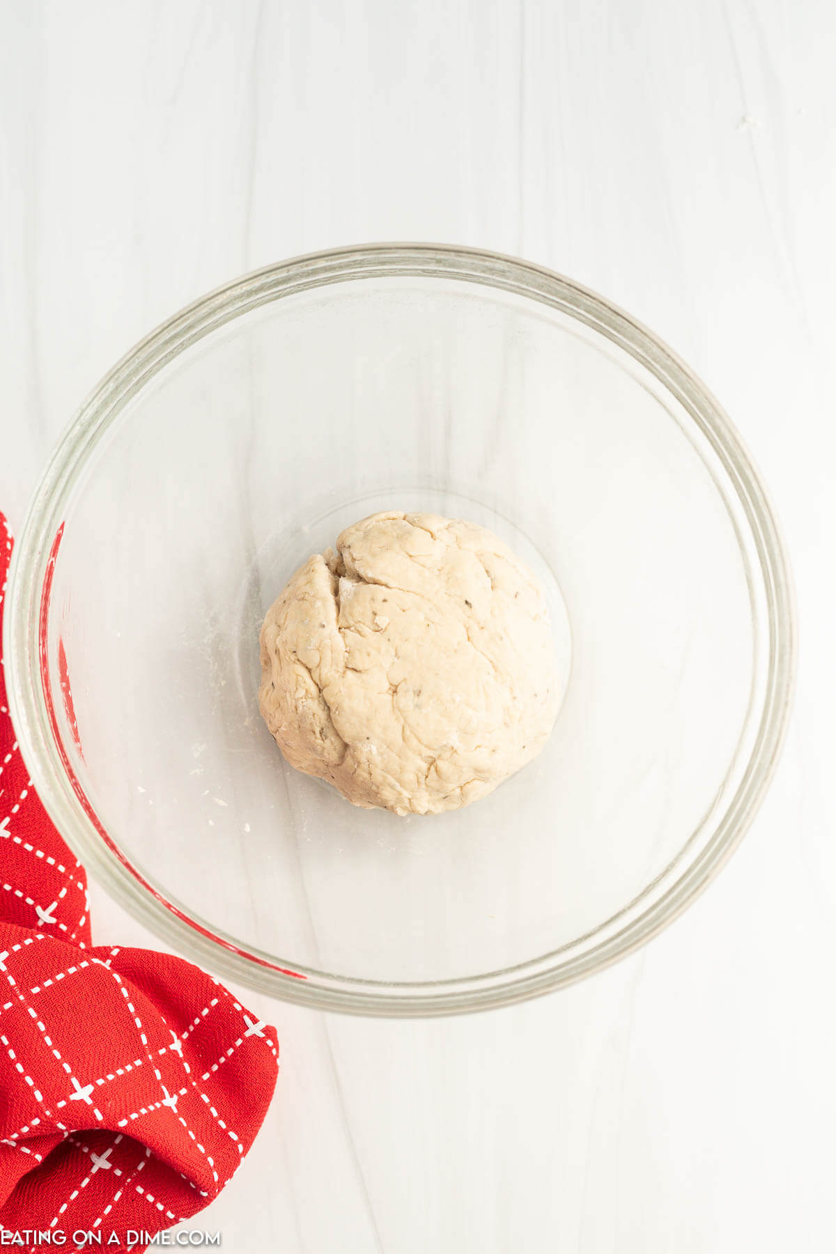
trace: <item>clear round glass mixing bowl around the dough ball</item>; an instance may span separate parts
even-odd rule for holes
[[[380,509],[491,528],[570,624],[545,750],[452,814],[351,806],[258,714],[264,609]],[[643,944],[787,719],[787,563],[728,419],[628,315],[480,251],[318,253],[178,314],[71,423],[10,578],[13,715],[79,858],[194,961],[323,1009],[499,1006]]]

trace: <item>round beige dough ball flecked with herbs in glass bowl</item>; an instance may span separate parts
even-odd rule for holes
[[[291,578],[261,630],[287,761],[395,814],[469,805],[545,744],[565,676],[543,593],[491,532],[374,514]]]

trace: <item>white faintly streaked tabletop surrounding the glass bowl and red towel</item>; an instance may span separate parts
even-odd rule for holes
[[[231,1254],[833,1241],[836,10],[828,0],[0,0],[0,508],[100,374],[338,243],[544,262],[667,339],[771,485],[796,711],[752,833],[609,973],[473,1018],[243,993],[283,1071],[192,1226]],[[149,943],[93,889],[98,942]]]

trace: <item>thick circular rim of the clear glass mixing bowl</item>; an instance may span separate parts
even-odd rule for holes
[[[708,438],[737,494],[763,578],[768,631],[762,711],[752,751],[712,838],[694,860],[678,868],[681,850],[671,864],[678,873],[649,904],[640,903],[664,882],[671,867],[612,919],[560,949],[501,971],[427,983],[379,982],[296,967],[292,961],[242,947],[163,895],[79,798],[71,767],[51,730],[40,671],[41,602],[64,504],[128,400],[197,340],[259,305],[335,282],[385,276],[464,280],[540,301],[604,335],[651,370]],[[602,971],[645,944],[707,887],[751,825],[778,761],[795,681],[795,597],[775,510],[739,434],[712,393],[658,336],[589,288],[519,257],[457,245],[370,243],[306,253],[222,285],[147,335],[102,379],[54,448],[14,547],[4,655],[16,736],[41,803],[83,865],[134,918],[213,973],[285,1001],[360,1014],[431,1016],[511,1004]],[[590,943],[594,938],[599,939]]]

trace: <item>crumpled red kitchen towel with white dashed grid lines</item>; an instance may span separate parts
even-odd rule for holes
[[[0,514],[0,623],[10,557]],[[1,660],[0,880],[3,1244],[145,1249],[252,1145],[276,1031],[182,958],[91,947],[86,878],[21,761]]]

